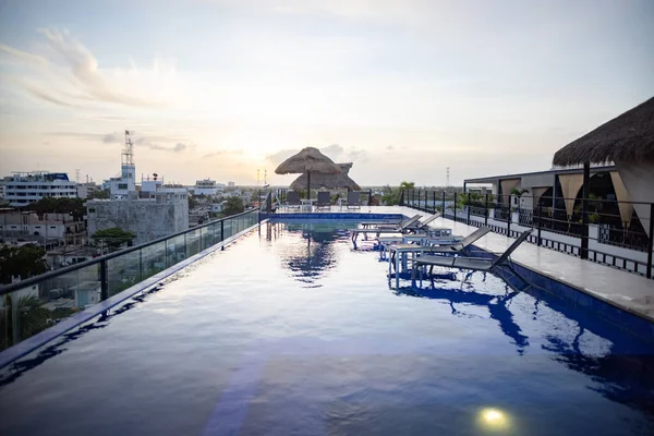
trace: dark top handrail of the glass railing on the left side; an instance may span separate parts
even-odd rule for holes
[[[168,241],[168,240],[170,240],[172,238],[177,238],[177,237],[182,235],[182,234],[191,233],[191,232],[194,232],[196,230],[202,230],[202,229],[204,229],[206,227],[213,226],[213,225],[215,225],[217,222],[220,222],[220,221],[223,221],[223,220],[227,220],[227,219],[238,218],[238,217],[241,217],[241,216],[244,216],[244,215],[247,215],[247,214],[253,214],[253,213],[256,213],[256,211],[257,211],[256,209],[249,209],[249,210],[242,211],[241,214],[230,215],[229,217],[215,219],[213,221],[209,221],[209,222],[206,222],[206,223],[202,223],[202,225],[198,225],[198,226],[192,227],[190,229],[182,230],[180,232],[172,233],[172,234],[169,234],[169,235],[166,235],[166,237],[161,237],[161,238],[155,239],[153,241],[144,242],[144,243],[138,244],[138,245],[129,246],[129,247],[126,247],[124,250],[120,250],[118,252],[108,253],[108,254],[105,254],[105,255],[101,255],[101,256],[98,256],[98,257],[95,257],[95,258],[92,258],[92,259],[88,259],[88,261],[85,261],[85,262],[81,262],[81,263],[75,264],[75,265],[70,265],[70,266],[66,266],[66,267],[63,267],[63,268],[55,269],[52,271],[40,274],[38,276],[29,277],[29,278],[27,278],[25,280],[21,280],[21,281],[15,282],[15,283],[5,284],[5,286],[0,287],[0,295],[5,295],[5,294],[11,293],[13,291],[16,291],[16,290],[20,290],[20,289],[24,289],[24,288],[31,287],[33,284],[37,284],[37,283],[39,283],[39,282],[41,282],[44,280],[52,279],[55,277],[59,277],[59,276],[62,276],[64,274],[72,272],[72,271],[75,271],[77,269],[86,268],[86,267],[89,267],[89,266],[93,266],[93,265],[96,265],[96,264],[100,264],[102,262],[110,261],[110,259],[116,258],[116,257],[123,256],[123,255],[129,254],[129,253],[133,253],[133,252],[142,250],[142,249],[146,249],[148,246],[158,244],[158,243],[164,242],[164,241]]]

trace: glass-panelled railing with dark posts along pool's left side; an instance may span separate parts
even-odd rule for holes
[[[189,230],[0,287],[0,350],[247,229],[259,210]]]

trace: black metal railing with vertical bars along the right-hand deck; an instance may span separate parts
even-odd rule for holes
[[[653,276],[654,203],[405,190],[400,204],[510,237],[533,228],[536,245]],[[628,222],[620,209],[633,209]]]

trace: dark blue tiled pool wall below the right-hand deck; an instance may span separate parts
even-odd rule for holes
[[[465,254],[471,257],[489,259],[496,257],[495,254],[476,246],[474,246],[474,250],[469,249]],[[584,289],[561,281],[547,272],[524,266],[519,262],[511,261],[511,265],[513,270],[532,287],[558,296],[577,307],[583,307],[615,327],[654,343],[654,319],[631,311],[629,307],[620,306],[614,301],[605,300],[601,295],[591,294]],[[510,269],[507,266],[499,267],[497,272],[501,279],[520,289],[520,287],[512,282],[516,276],[510,274]]]

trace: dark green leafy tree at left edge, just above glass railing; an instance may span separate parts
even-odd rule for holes
[[[44,258],[46,251],[36,244],[21,246],[3,245],[0,247],[0,283],[11,283],[11,278],[19,276],[26,279],[48,270]]]

